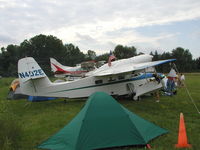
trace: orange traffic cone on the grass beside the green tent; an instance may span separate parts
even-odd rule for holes
[[[180,122],[179,122],[179,133],[178,133],[178,144],[175,145],[176,148],[186,148],[191,147],[187,141],[186,129],[185,129],[185,122],[183,113],[180,113]]]

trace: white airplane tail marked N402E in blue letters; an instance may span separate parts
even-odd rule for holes
[[[18,76],[20,88],[26,95],[36,96],[51,81],[32,57],[22,58],[18,61]]]

